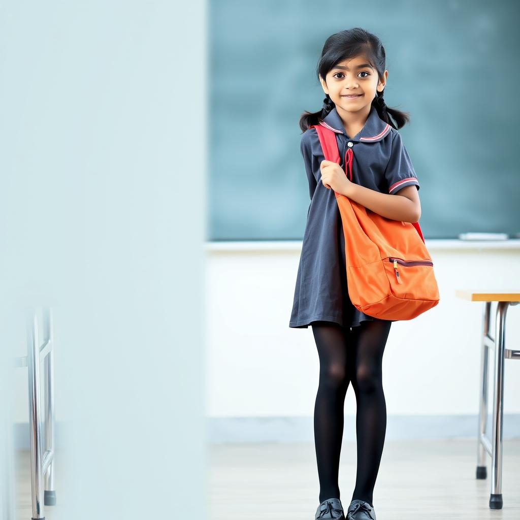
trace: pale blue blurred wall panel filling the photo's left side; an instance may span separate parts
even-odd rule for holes
[[[2,4],[0,481],[24,487],[2,488],[2,518],[28,493],[2,432],[28,421],[11,356],[27,352],[22,310],[40,305],[55,311],[49,516],[207,516],[206,20],[200,1]]]

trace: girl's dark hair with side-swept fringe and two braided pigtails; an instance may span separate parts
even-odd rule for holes
[[[367,57],[372,67],[378,71],[379,79],[382,80],[386,62],[385,48],[377,36],[360,27],[346,29],[327,38],[316,68],[318,79],[321,76],[324,80],[332,68],[341,61],[360,55]],[[410,121],[409,113],[386,106],[382,92],[377,93],[372,100],[372,105],[378,111],[379,117],[395,129],[401,128]],[[319,124],[334,106],[334,101],[327,94],[321,110],[318,112],[305,111],[300,117],[302,132],[312,125]],[[390,116],[394,119],[395,124]]]

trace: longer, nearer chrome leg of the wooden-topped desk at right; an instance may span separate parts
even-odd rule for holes
[[[498,302],[495,332],[495,383],[493,385],[493,437],[491,441],[491,496],[489,507],[502,509],[502,424],[504,405],[505,317],[509,302]]]

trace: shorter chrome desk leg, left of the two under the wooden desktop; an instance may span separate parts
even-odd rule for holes
[[[482,346],[480,347],[480,397],[478,402],[478,432],[477,432],[477,478],[487,477],[486,450],[482,444],[482,437],[486,434],[488,413],[488,374],[489,348],[486,345],[486,336],[489,334],[491,317],[491,302],[484,302],[482,315]]]

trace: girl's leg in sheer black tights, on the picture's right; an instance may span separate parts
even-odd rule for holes
[[[357,473],[352,500],[372,504],[386,433],[386,402],[382,384],[383,350],[392,322],[374,319],[352,328],[352,386],[356,394]]]

